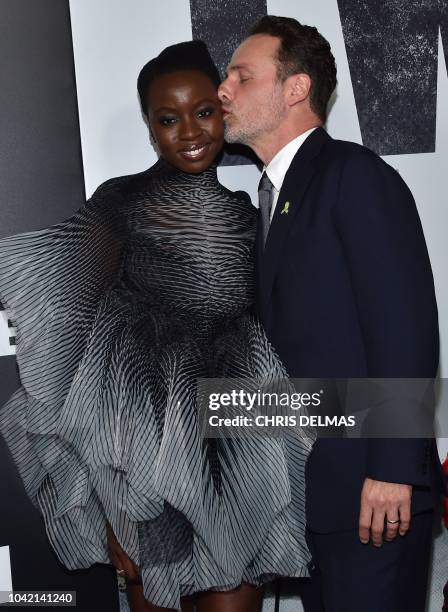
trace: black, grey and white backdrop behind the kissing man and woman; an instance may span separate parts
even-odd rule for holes
[[[151,165],[140,67],[166,45],[201,38],[223,69],[265,13],[316,25],[328,38],[339,79],[329,132],[374,149],[410,186],[436,282],[440,375],[448,377],[448,0],[0,0],[0,235],[60,221],[105,179]],[[255,201],[259,171],[248,160],[228,158],[219,175]],[[0,380],[3,402],[18,385],[4,312]],[[446,439],[439,450],[446,455]],[[70,588],[80,610],[118,610],[107,568],[59,566],[1,441],[0,482],[0,590],[10,558],[16,590]],[[437,531],[431,612],[448,578],[446,535]],[[300,609],[285,592],[280,610]]]

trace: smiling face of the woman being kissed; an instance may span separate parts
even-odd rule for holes
[[[197,174],[208,168],[224,144],[216,87],[198,70],[155,79],[148,92],[147,113],[160,155],[184,172]]]

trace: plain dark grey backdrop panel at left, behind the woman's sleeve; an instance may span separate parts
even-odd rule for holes
[[[1,236],[51,225],[81,206],[68,0],[1,0],[0,134]],[[15,358],[2,357],[1,403],[17,385]],[[72,590],[82,612],[118,610],[108,567],[69,572],[59,564],[1,439],[0,518],[0,546],[10,546],[15,590]]]

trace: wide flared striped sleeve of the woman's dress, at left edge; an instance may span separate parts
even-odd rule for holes
[[[119,197],[108,181],[66,221],[0,240],[0,302],[17,330],[22,384],[38,400],[63,401],[98,303],[118,279]]]

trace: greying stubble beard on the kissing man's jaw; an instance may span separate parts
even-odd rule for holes
[[[225,123],[224,138],[226,142],[253,147],[260,137],[273,132],[280,125],[287,110],[280,86],[274,87],[268,103],[264,104],[263,107],[262,115],[251,110],[248,117],[245,117],[244,114],[239,115],[235,126],[232,126],[231,122]]]

